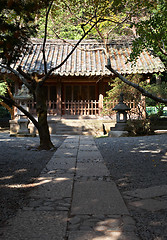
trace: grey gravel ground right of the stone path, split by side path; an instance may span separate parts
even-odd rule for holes
[[[122,196],[125,191],[167,184],[166,134],[95,141]],[[167,240],[167,210],[129,211],[142,240]]]

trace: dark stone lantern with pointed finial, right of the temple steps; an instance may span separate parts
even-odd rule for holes
[[[109,136],[119,137],[128,134],[125,127],[127,126],[127,111],[130,111],[130,108],[123,101],[123,93],[121,93],[119,103],[112,109],[116,111],[116,125],[110,129]]]

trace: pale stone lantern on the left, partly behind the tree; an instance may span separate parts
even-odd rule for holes
[[[23,84],[21,89],[16,95],[14,95],[14,100],[17,100],[21,107],[26,111],[28,108],[28,101],[32,99],[32,95],[29,94],[28,88]],[[11,136],[31,136],[30,130],[28,129],[29,120],[19,109],[17,110],[17,119],[10,121],[10,135]],[[17,125],[17,127],[16,127]],[[16,133],[13,134],[13,129],[17,129]]]

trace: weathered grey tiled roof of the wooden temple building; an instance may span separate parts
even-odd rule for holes
[[[48,40],[46,43],[46,58],[48,70],[59,65],[72,50],[77,41],[63,42],[61,40]],[[165,67],[158,57],[144,51],[134,65],[127,62],[131,53],[131,45],[124,43],[111,43],[111,65],[121,74],[163,72]],[[44,64],[42,55],[42,40],[33,39],[31,51],[23,56],[13,66],[15,69],[21,65],[26,72],[43,74]],[[77,47],[67,62],[52,74],[60,76],[109,76],[111,72],[106,69],[106,55],[102,43],[96,40],[84,40]],[[4,70],[2,70],[4,71]]]

